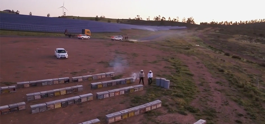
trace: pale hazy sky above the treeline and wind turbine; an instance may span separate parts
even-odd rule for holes
[[[240,21],[265,18],[264,0],[0,0],[0,9],[20,11],[20,14],[51,17],[63,15],[127,19],[140,15],[143,20],[150,16],[164,16],[166,20],[177,16],[180,20],[193,17],[195,22]]]

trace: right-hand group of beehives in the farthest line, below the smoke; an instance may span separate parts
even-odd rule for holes
[[[93,75],[85,75],[85,76],[78,76],[72,77],[72,82],[82,82],[88,80],[98,80],[107,77],[114,77],[115,72],[107,72],[107,73],[100,73],[100,74],[93,74]]]

